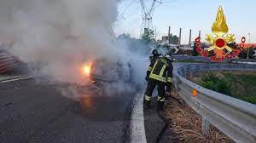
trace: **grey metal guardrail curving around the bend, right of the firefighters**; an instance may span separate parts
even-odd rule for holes
[[[186,79],[189,74],[204,71],[256,72],[256,65],[196,64],[182,66],[174,72],[177,92],[203,117],[202,128],[210,122],[236,142],[256,142],[256,105],[202,88]],[[197,96],[192,95],[194,89]]]

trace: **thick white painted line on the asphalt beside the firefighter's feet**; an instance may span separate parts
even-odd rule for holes
[[[137,94],[134,100],[134,107],[131,113],[131,143],[147,143],[144,126],[143,99],[143,94]]]

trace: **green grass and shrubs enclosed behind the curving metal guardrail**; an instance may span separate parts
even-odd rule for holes
[[[256,74],[246,72],[207,72],[199,84],[207,89],[256,104]]]

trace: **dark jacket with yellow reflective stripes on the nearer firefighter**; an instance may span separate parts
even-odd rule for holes
[[[157,60],[151,60],[147,77],[168,85],[172,83],[172,69],[172,61],[168,60],[166,57],[160,57]]]

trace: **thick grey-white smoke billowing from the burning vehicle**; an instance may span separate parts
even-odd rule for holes
[[[54,77],[57,82],[84,83],[81,64],[104,59],[119,61],[124,72],[131,72],[132,80],[143,86],[148,60],[143,57],[148,51],[141,43],[131,44],[134,41],[115,37],[118,3],[119,0],[0,0],[0,40],[12,42],[12,54],[29,65],[41,65],[44,68],[40,74]]]

